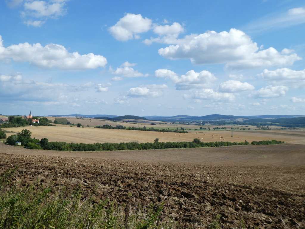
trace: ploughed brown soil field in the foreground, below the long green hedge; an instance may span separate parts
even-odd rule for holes
[[[147,206],[182,228],[305,228],[305,147],[299,144],[155,151],[61,152],[0,143],[0,170],[24,185],[81,185],[96,198]],[[52,182],[52,183],[51,183]]]

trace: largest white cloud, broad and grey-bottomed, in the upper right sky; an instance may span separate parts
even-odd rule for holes
[[[209,31],[175,39],[158,53],[168,59],[190,59],[192,64],[226,64],[226,68],[244,69],[274,65],[292,65],[301,60],[297,54],[281,54],[274,48],[259,50],[256,42],[243,31]],[[285,49],[285,52],[287,50]]]

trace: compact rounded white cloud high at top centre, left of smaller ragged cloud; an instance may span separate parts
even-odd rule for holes
[[[143,18],[141,14],[127,13],[117,24],[108,28],[110,34],[118,41],[138,39],[139,33],[147,32],[151,29],[152,20]]]

